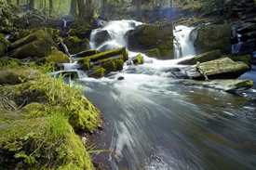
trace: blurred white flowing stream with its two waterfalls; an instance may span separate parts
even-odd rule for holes
[[[126,46],[124,33],[141,23],[110,22],[107,42],[93,48]],[[179,58],[195,56],[190,28],[176,27],[182,52],[177,59],[143,55],[142,65],[101,79],[80,75],[85,96],[103,112],[106,123],[95,153],[105,169],[255,169],[256,105],[240,95],[193,86],[174,85],[168,69]],[[95,30],[92,36],[96,36]],[[91,37],[93,39],[95,37]],[[179,47],[180,48],[180,47]],[[138,53],[129,52],[129,57]],[[182,55],[180,55],[182,54]],[[77,64],[67,64],[75,70]],[[117,80],[118,77],[124,80]]]

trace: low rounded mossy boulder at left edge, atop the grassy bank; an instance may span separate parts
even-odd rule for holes
[[[34,80],[40,75],[40,72],[32,70],[3,69],[0,70],[0,85],[17,85],[29,80]]]

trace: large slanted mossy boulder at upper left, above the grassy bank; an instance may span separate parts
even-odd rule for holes
[[[7,56],[16,59],[45,57],[56,52],[55,46],[51,36],[43,30],[39,30],[10,44]]]

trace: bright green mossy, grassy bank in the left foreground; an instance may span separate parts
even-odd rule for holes
[[[101,111],[81,88],[50,77],[42,67],[0,69],[0,169],[94,169],[75,131],[97,130]],[[8,76],[20,82],[5,82]]]

